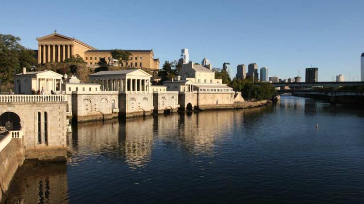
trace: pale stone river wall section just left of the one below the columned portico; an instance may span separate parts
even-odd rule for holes
[[[118,116],[117,93],[77,94],[73,92],[71,98],[72,119],[75,121],[111,119]]]

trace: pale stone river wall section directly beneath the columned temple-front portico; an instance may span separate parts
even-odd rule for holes
[[[153,94],[119,94],[119,111],[122,117],[150,115],[153,111]]]

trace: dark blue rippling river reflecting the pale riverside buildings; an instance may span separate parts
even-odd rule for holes
[[[313,99],[83,123],[67,145],[6,202],[364,202],[364,111]]]

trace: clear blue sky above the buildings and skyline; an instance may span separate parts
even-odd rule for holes
[[[318,67],[319,81],[360,75],[364,52],[364,0],[6,0],[0,33],[28,48],[57,32],[98,49],[153,49],[175,60],[205,55],[213,67],[230,62],[269,67],[269,76],[298,75]],[[360,77],[360,76],[359,76]]]

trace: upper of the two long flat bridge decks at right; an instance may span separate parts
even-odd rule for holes
[[[363,85],[364,82],[291,82],[291,83],[272,83],[274,87],[281,86],[295,86],[295,87],[309,87],[309,86],[327,86],[327,87],[340,87],[340,86],[358,86]]]

